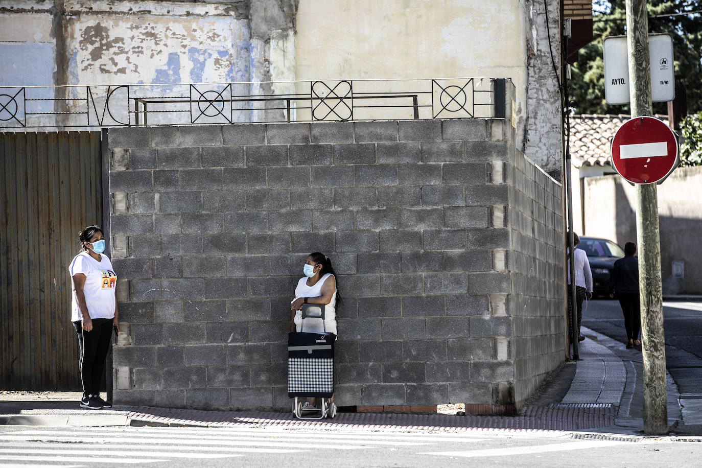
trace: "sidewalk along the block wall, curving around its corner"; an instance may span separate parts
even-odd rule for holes
[[[333,420],[297,420],[290,412],[203,411],[119,406],[79,408],[77,392],[46,392],[32,401],[0,396],[0,424],[29,426],[171,427],[377,427],[453,430],[564,430],[605,433],[614,439],[644,436],[642,366],[639,349],[588,328],[581,361],[553,373],[515,416],[411,413],[338,413]],[[668,376],[671,435],[702,436],[702,408],[681,411],[677,387]],[[604,436],[604,435],[603,435]],[[597,437],[603,437],[597,436]]]

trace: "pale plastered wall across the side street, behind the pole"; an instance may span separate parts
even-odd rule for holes
[[[664,294],[701,294],[702,168],[677,168],[658,185],[661,277]],[[635,188],[619,175],[585,179],[585,229],[588,236],[623,246],[636,242]],[[673,262],[684,262],[684,278],[673,277]]]

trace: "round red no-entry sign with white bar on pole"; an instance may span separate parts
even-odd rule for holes
[[[625,121],[612,139],[612,167],[629,182],[664,180],[679,162],[677,136],[655,117]]]

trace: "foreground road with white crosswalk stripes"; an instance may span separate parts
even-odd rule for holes
[[[684,439],[558,431],[0,427],[0,467],[670,467],[700,457],[702,443]]]

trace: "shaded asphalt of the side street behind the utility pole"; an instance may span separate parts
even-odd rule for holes
[[[583,326],[626,342],[624,319],[616,300],[583,305]],[[702,395],[702,302],[663,302],[665,366],[681,395]]]

